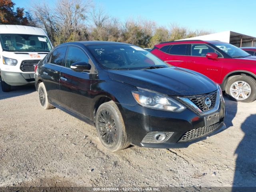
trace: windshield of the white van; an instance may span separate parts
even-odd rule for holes
[[[28,34],[0,34],[4,51],[49,52],[52,50],[46,36]]]

